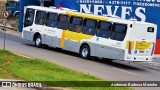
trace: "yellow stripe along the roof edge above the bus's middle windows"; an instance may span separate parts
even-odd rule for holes
[[[79,13],[79,12],[67,11],[66,14],[69,15],[69,16],[76,16],[76,17],[82,17],[82,18],[87,18],[87,19],[94,19],[94,20],[101,20],[101,21],[107,21],[108,20],[107,17],[95,16],[95,15],[92,15],[92,14],[85,14],[85,13]]]

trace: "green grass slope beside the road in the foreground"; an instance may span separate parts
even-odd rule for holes
[[[60,83],[53,81],[104,81],[44,60],[24,58],[4,50],[0,50],[0,77],[14,77],[27,81],[52,81],[43,82],[49,86],[59,86]],[[73,87],[76,84],[67,83],[72,86],[69,88],[78,90],[133,90],[128,87]]]

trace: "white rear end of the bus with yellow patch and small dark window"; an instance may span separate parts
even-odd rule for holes
[[[131,24],[130,27],[124,59],[127,61],[152,61],[157,25],[137,22]]]

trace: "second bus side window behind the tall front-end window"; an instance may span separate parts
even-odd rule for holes
[[[49,27],[57,27],[58,14],[55,13],[47,13],[46,26]]]

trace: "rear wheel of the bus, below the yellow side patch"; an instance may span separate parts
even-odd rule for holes
[[[80,49],[80,55],[84,59],[89,59],[90,57],[90,48],[88,45],[83,45]]]

